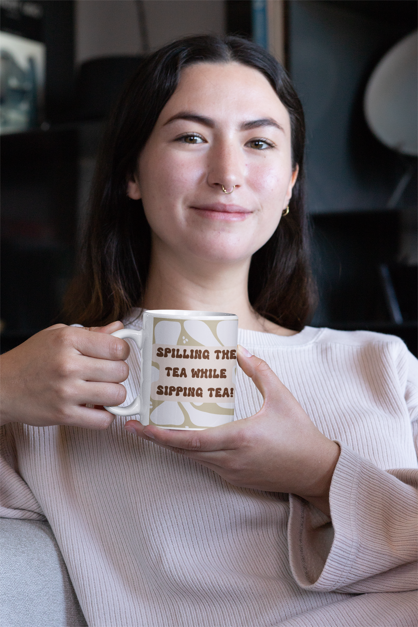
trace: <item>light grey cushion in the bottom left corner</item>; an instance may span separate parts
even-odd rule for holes
[[[0,627],[86,627],[47,522],[0,519]]]

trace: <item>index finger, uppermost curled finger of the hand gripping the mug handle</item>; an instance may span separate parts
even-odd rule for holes
[[[125,360],[129,356],[128,343],[114,335],[89,331],[80,327],[56,329],[56,333],[57,344],[63,343],[67,347],[78,350],[81,355],[86,357],[119,361]]]

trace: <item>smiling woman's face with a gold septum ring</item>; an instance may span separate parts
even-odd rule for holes
[[[154,246],[231,263],[269,240],[296,176],[289,114],[268,80],[239,63],[199,63],[182,71],[128,196],[142,198]]]

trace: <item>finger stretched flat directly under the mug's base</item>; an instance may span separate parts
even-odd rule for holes
[[[133,428],[136,435],[154,440],[161,446],[169,446],[185,451],[224,451],[239,448],[241,437],[241,425],[238,421],[221,424],[218,427],[193,431],[192,429],[160,429],[153,425],[142,426],[136,420],[125,423],[125,429]],[[131,431],[133,433],[133,431]]]

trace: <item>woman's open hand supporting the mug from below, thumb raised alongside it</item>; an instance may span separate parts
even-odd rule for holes
[[[135,420],[125,423],[125,429],[199,461],[233,485],[293,493],[330,515],[340,447],[316,428],[266,362],[239,347],[238,363],[264,398],[251,418],[202,431],[144,427]]]

